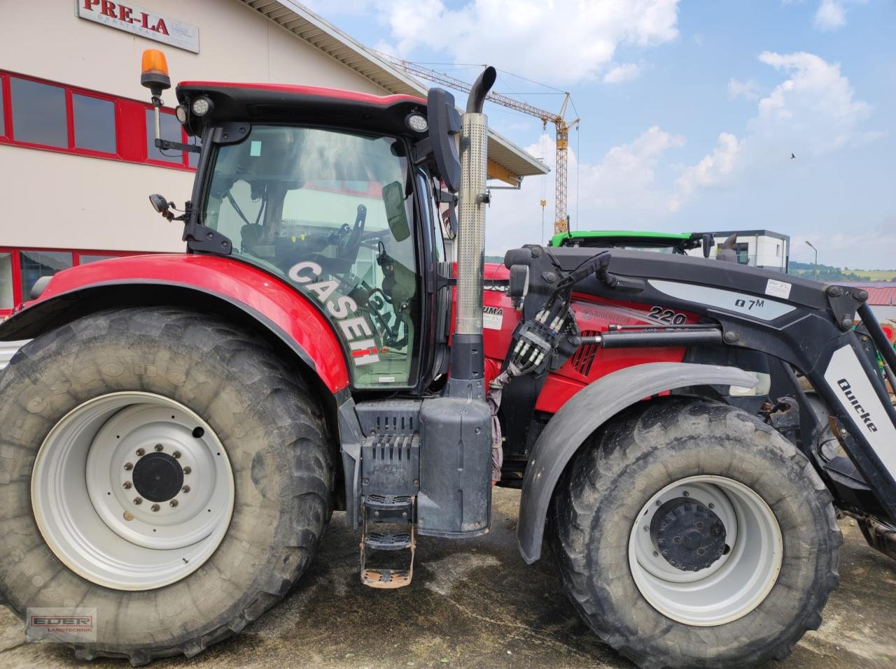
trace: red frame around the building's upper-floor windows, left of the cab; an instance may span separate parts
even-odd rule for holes
[[[15,128],[13,127],[13,91],[11,83],[13,77],[16,79],[34,81],[47,86],[55,86],[56,88],[65,90],[65,120],[68,132],[67,147],[51,147],[46,144],[15,139]],[[41,79],[39,77],[32,77],[28,74],[10,72],[7,70],[0,70],[0,86],[3,87],[3,106],[0,108],[0,114],[3,114],[4,119],[4,134],[0,134],[0,145],[9,144],[17,147],[53,151],[55,153],[102,158],[104,160],[117,160],[125,163],[156,165],[159,167],[168,167],[168,169],[195,172],[195,168],[191,167],[189,164],[190,158],[186,151],[183,152],[183,159],[180,163],[154,160],[149,157],[146,133],[146,110],[152,109],[152,105],[149,103],[134,100],[129,97],[116,97],[108,95],[107,93],[101,93],[97,90],[82,89],[78,86],[68,86],[59,81]],[[115,153],[106,153],[105,151],[96,151],[90,148],[77,148],[74,146],[74,110],[72,96],[75,94],[107,100],[115,105]],[[171,107],[163,107],[161,112],[162,114],[173,115],[174,109]],[[181,128],[180,140],[185,144],[189,143],[186,131],[183,128]]]

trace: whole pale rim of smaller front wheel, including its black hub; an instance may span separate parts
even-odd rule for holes
[[[681,478],[651,495],[633,519],[629,567],[660,614],[687,625],[735,621],[774,586],[783,540],[771,508],[724,476]]]

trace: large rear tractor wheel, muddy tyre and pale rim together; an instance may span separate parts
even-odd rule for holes
[[[299,370],[261,336],[108,310],[22,348],[0,398],[0,601],[95,609],[75,656],[194,656],[311,563],[332,451]]]

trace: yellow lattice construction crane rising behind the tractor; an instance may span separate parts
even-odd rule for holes
[[[470,92],[471,86],[464,80],[457,79],[449,74],[444,74],[443,72],[430,70],[428,67],[424,67],[423,65],[418,65],[416,63],[411,63],[410,61],[402,60],[401,58],[396,58],[393,55],[383,54],[379,51],[375,53],[376,55],[379,55],[381,58],[383,58],[383,60],[386,60],[389,63],[395,65],[404,72],[417,75],[418,77],[422,77],[426,80],[434,81],[437,84],[447,86],[451,89],[460,90],[463,93]],[[556,128],[557,152],[555,174],[556,217],[554,219],[554,233],[559,234],[569,232],[569,216],[566,215],[566,154],[569,150],[569,131],[573,128],[573,126],[575,126],[576,123],[579,123],[580,121],[580,119],[578,118],[573,119],[573,121],[567,121],[564,118],[566,114],[566,107],[569,105],[569,93],[567,92],[564,95],[563,105],[560,106],[560,111],[557,114],[548,112],[544,109],[539,109],[537,106],[530,105],[526,102],[521,102],[520,100],[514,100],[513,97],[507,97],[505,95],[501,95],[500,93],[495,93],[494,91],[489,93],[486,99],[494,102],[497,105],[515,109],[516,111],[522,112],[523,114],[535,116],[536,118],[541,119],[541,123],[545,127],[547,127],[548,122],[554,123],[554,126]]]

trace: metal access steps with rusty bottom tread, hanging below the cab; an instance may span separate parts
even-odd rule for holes
[[[394,589],[410,584],[417,547],[417,497],[366,495],[361,536],[361,582]],[[373,565],[371,565],[373,562]]]

